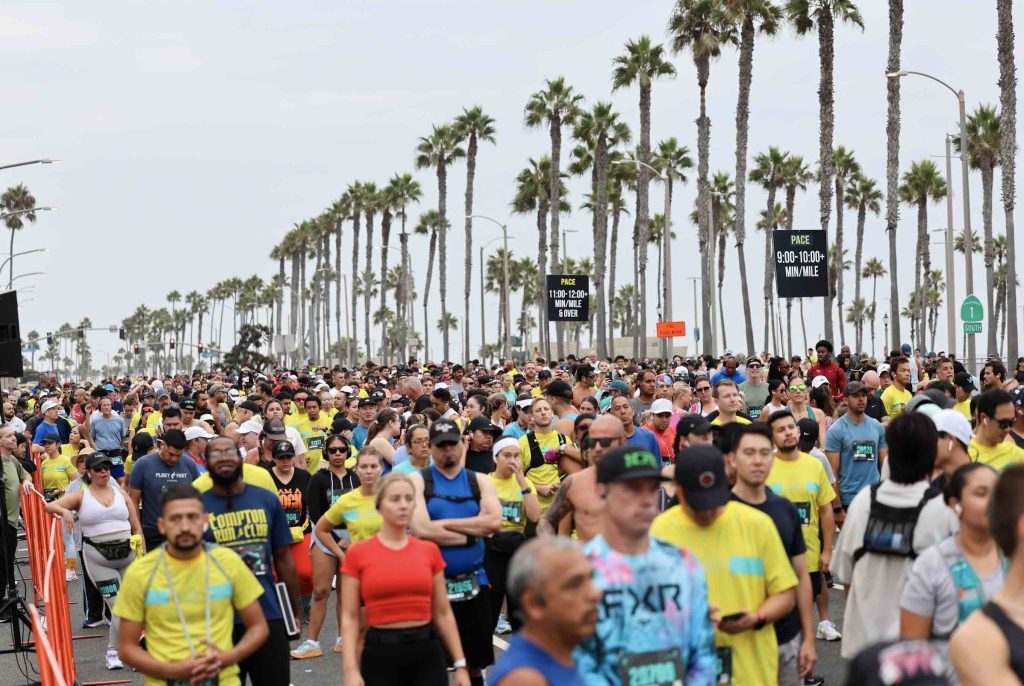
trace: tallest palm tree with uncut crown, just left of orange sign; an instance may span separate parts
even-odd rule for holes
[[[633,84],[640,87],[640,165],[637,170],[637,239],[640,248],[639,284],[640,307],[640,349],[647,350],[647,242],[650,230],[650,89],[654,79],[676,75],[676,68],[665,58],[665,46],[651,43],[649,36],[626,43],[626,52],[611,60],[611,90],[628,88]]]

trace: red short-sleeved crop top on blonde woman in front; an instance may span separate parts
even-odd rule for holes
[[[401,550],[391,550],[376,535],[361,541],[348,549],[341,565],[341,573],[359,580],[371,627],[430,621],[434,576],[443,569],[437,544],[415,537]]]

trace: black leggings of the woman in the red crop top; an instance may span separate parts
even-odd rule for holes
[[[447,686],[447,661],[433,627],[367,632],[359,674],[366,686]]]

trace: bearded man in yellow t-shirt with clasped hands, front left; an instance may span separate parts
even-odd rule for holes
[[[121,659],[144,674],[147,686],[238,684],[239,662],[267,638],[257,602],[264,591],[237,554],[203,544],[207,515],[198,490],[171,486],[160,510],[167,545],[128,568],[114,605]],[[232,638],[236,613],[242,631]]]

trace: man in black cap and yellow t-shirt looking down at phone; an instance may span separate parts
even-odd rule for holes
[[[715,645],[719,682],[775,683],[778,643],[771,626],[796,603],[797,575],[771,517],[730,502],[722,453],[693,445],[676,461],[679,505],[651,525],[651,535],[693,553],[719,609]]]

